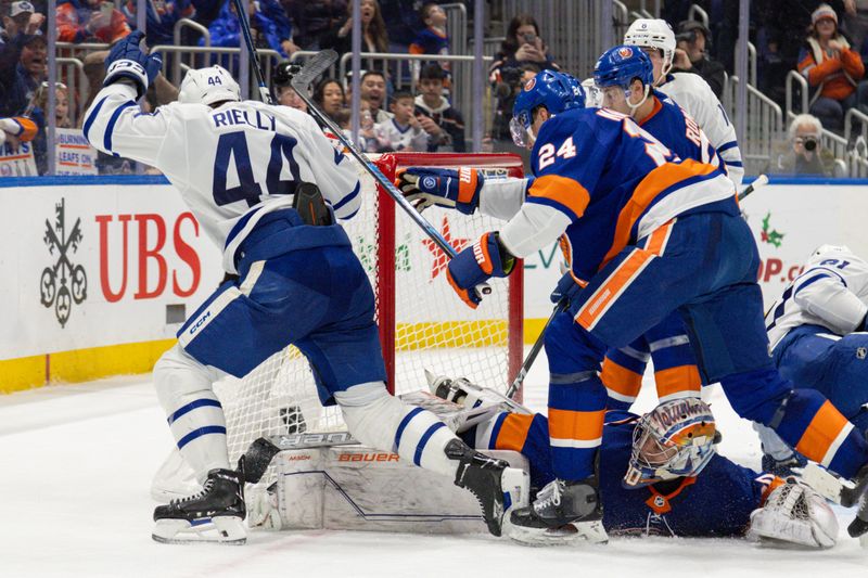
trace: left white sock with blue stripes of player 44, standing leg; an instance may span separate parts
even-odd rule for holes
[[[154,387],[175,441],[200,483],[215,467],[230,468],[226,416],[213,382],[219,372],[203,365],[179,345],[154,365]]]

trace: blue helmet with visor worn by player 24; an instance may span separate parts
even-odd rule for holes
[[[538,106],[545,106],[552,115],[571,108],[584,108],[585,89],[574,77],[554,70],[542,70],[528,80],[515,98],[510,120],[512,140],[519,146],[527,146],[534,140],[529,129]]]

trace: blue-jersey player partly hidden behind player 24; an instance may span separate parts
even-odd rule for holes
[[[653,88],[653,65],[638,47],[607,50],[593,68],[593,81],[608,108],[636,123],[680,158],[724,166],[697,123],[666,94]],[[654,361],[660,401],[698,397],[702,386],[681,316],[674,311],[627,347],[607,351],[600,378],[610,409],[629,409],[648,361]]]

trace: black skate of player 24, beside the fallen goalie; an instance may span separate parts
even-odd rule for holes
[[[604,543],[603,510],[593,477],[564,481],[554,479],[534,503],[512,512],[509,536],[528,545]]]

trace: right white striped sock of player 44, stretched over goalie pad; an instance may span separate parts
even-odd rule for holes
[[[430,411],[388,395],[383,382],[354,385],[334,395],[349,432],[359,441],[455,478],[458,462],[444,448],[455,434]]]

